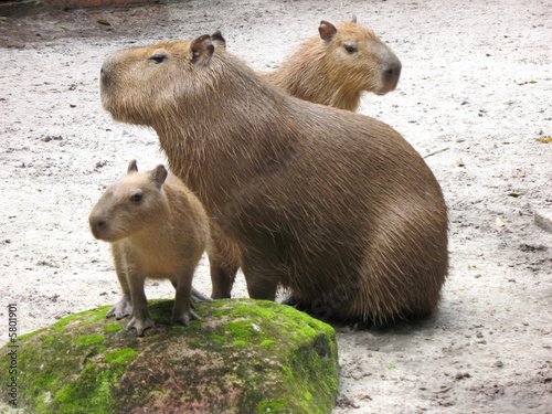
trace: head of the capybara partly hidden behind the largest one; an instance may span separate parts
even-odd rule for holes
[[[401,61],[370,29],[343,22],[336,28],[321,21],[318,28],[326,44],[328,64],[350,88],[384,95],[394,91],[401,76]]]

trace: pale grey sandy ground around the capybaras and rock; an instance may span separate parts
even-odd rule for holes
[[[367,95],[360,112],[424,156],[443,149],[426,160],[450,211],[452,266],[431,319],[337,327],[333,413],[552,412],[552,234],[533,222],[552,206],[552,144],[538,140],[552,134],[552,4],[331,3],[193,0],[0,22],[1,343],[8,304],[25,333],[118,299],[108,245],[93,240],[87,215],[130,159],[150,169],[163,156],[151,130],[103,110],[107,55],[221,29],[230,51],[265,71],[321,19],[357,14],[403,63],[397,91]],[[208,274],[203,261],[194,286],[205,293]],[[173,290],[149,284],[147,294]],[[246,296],[243,277],[234,295]]]

